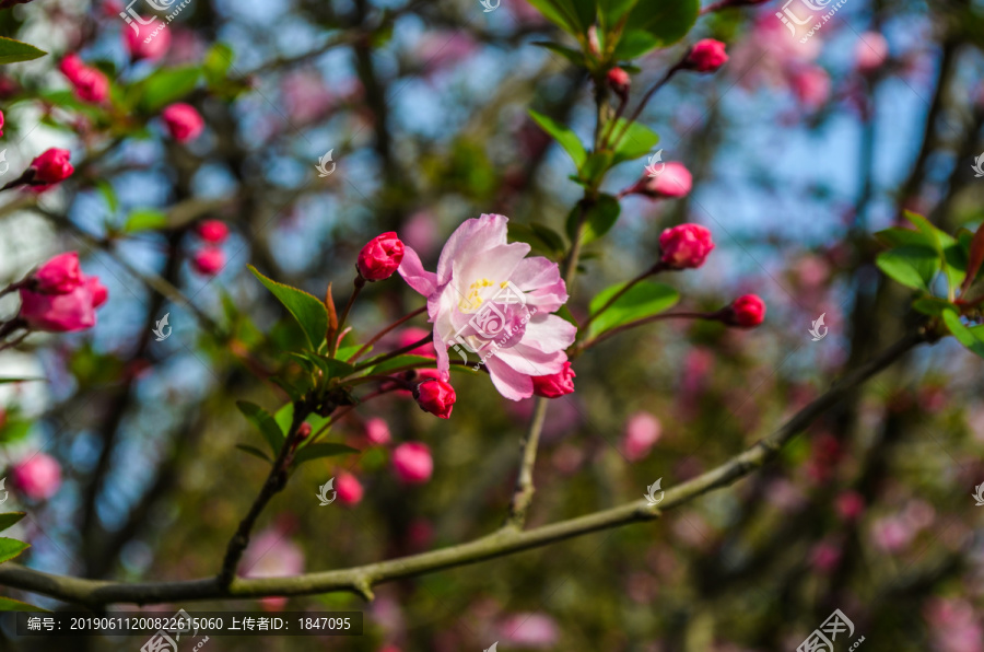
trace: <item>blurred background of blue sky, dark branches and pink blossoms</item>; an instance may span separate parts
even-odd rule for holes
[[[147,20],[178,4],[129,8]],[[512,237],[557,259],[538,225],[562,232],[579,188],[526,112],[587,138],[591,85],[534,45],[562,36],[524,0],[494,11],[477,0],[190,0],[151,44],[131,37],[127,9],[35,0],[0,12],[4,35],[49,53],[0,72],[4,178],[48,147],[71,150],[77,168],[46,193],[0,197],[0,284],[77,251],[109,290],[94,328],[0,352],[0,375],[46,380],[0,385],[7,477],[46,459],[34,485],[8,482],[4,509],[28,513],[9,532],[32,544],[19,558],[32,568],[196,579],[218,572],[267,474],[235,449],[257,441],[235,401],[286,403],[266,377],[302,337],[246,266],[316,296],[333,283],[341,303],[370,237],[396,231],[433,269],[448,234],[483,212],[508,216]],[[900,224],[903,209],[951,233],[984,220],[973,171],[984,153],[984,2],[848,0],[807,43],[782,9],[711,13],[684,43],[640,61],[633,97],[698,38],[719,38],[730,55],[715,75],[677,75],[643,115],[663,160],[693,173],[693,191],[628,198],[609,237],[587,248],[570,304],[585,315],[595,293],[652,265],[664,228],[689,221],[717,248],[669,279],[681,305],[716,310],[754,292],[765,324],[668,322],[582,356],[577,391],[550,404],[529,526],[639,499],[657,478],[672,487],[771,433],[913,323],[910,292],[872,264],[872,233]],[[72,94],[58,70],[69,53],[106,74],[110,103]],[[185,143],[160,117],[176,101],[204,118]],[[329,152],[335,171],[319,176]],[[606,191],[643,165],[623,164]],[[231,231],[208,273],[196,264],[210,246],[202,220]],[[394,278],[363,292],[351,323],[366,337],[421,305]],[[15,310],[15,296],[0,299],[0,315]],[[165,314],[173,333],[156,341]],[[821,315],[829,334],[813,341]],[[418,338],[396,333],[377,350]],[[216,652],[495,641],[502,651],[792,651],[835,608],[864,650],[984,651],[984,510],[971,496],[984,482],[981,371],[956,341],[924,347],[733,488],[660,521],[384,584],[372,604],[329,594],[147,609],[365,613],[361,638],[213,637],[202,649]],[[455,388],[447,421],[408,396],[351,412],[332,438],[361,454],[301,467],[241,572],[347,568],[497,527],[532,400],[502,399],[484,374]],[[433,456],[423,481],[394,470],[406,442]],[[331,477],[356,484],[321,508]],[[8,650],[143,643],[0,637]]]

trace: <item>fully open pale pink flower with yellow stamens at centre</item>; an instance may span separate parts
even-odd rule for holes
[[[535,376],[564,369],[576,328],[549,314],[567,301],[557,264],[526,258],[526,243],[507,244],[507,222],[496,214],[466,220],[445,243],[436,273],[407,247],[399,272],[427,298],[437,369],[448,371],[448,347],[462,358],[465,349],[476,352],[499,393],[519,400],[532,396]]]

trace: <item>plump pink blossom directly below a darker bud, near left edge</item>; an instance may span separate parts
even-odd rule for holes
[[[34,330],[69,333],[95,326],[95,311],[106,303],[108,292],[96,277],[82,276],[71,292],[44,294],[22,288],[19,317]]]

